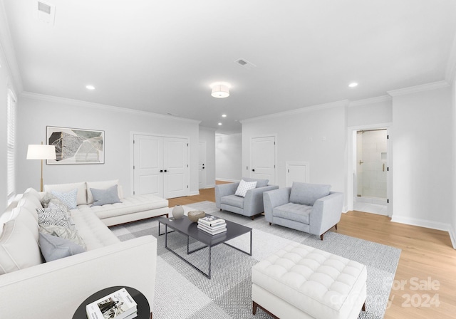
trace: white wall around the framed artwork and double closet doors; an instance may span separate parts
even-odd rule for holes
[[[39,188],[40,164],[26,160],[28,144],[46,144],[46,126],[105,131],[105,164],[44,165],[44,184],[120,179],[124,194],[132,194],[132,132],[190,138],[190,194],[198,194],[199,122],[176,117],[63,100],[21,95],[18,112],[17,189]]]

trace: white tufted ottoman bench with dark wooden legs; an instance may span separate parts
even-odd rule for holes
[[[252,268],[253,314],[275,318],[358,318],[366,305],[366,266],[290,244]]]

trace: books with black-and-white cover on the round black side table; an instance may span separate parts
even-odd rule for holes
[[[86,305],[88,319],[133,319],[138,315],[135,300],[125,288]]]

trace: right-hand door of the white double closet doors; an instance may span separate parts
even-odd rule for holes
[[[174,198],[188,193],[188,142],[186,138],[163,138],[163,196]]]

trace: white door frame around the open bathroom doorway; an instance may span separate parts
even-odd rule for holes
[[[356,178],[356,132],[359,130],[377,130],[386,129],[387,135],[391,135],[391,126],[393,123],[379,123],[372,125],[358,125],[348,127],[347,130],[347,145],[348,145],[348,159],[347,159],[347,209],[353,211],[354,196],[355,196],[355,182]],[[387,212],[388,216],[393,216],[393,147],[391,145],[391,139],[387,140],[387,152],[388,157],[386,159],[386,166],[388,167],[388,173],[386,177],[386,196],[388,199]]]

